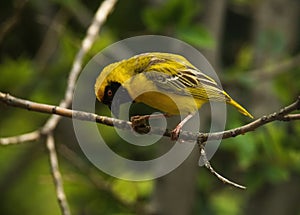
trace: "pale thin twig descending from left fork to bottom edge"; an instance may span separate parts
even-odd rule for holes
[[[62,177],[59,172],[57,154],[55,150],[55,142],[52,134],[47,135],[46,146],[49,153],[51,173],[56,188],[56,197],[59,202],[60,209],[63,215],[71,215],[70,208],[64,192]]]

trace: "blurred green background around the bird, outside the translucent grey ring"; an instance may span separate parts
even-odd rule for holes
[[[12,0],[0,3],[0,91],[58,104],[82,38],[101,1]],[[255,117],[292,103],[300,92],[300,1],[121,0],[86,62],[127,37],[159,34],[199,49],[223,88]],[[277,69],[293,60],[288,68]],[[99,113],[108,114],[99,105]],[[48,115],[0,105],[0,137],[33,131]],[[227,128],[249,122],[228,108]],[[107,135],[113,128],[100,126]],[[147,158],[153,150],[131,151]],[[72,121],[55,131],[64,188],[73,214],[300,214],[300,123],[274,122],[222,141],[212,165],[247,190],[224,185],[197,166],[198,152],[170,174],[128,182],[96,169],[83,155]],[[60,214],[44,140],[0,148],[0,214]]]

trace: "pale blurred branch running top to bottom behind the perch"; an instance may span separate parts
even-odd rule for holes
[[[65,92],[64,99],[61,100],[59,106],[62,108],[66,108],[70,106],[73,98],[73,91],[75,89],[76,80],[81,72],[82,68],[82,62],[83,58],[86,55],[86,53],[90,50],[92,44],[96,40],[99,30],[103,23],[105,22],[107,16],[112,12],[114,5],[116,4],[117,0],[105,0],[102,2],[102,4],[99,6],[94,19],[92,21],[92,24],[87,30],[87,34],[85,38],[82,41],[81,48],[79,49],[77,55],[75,56],[75,59],[73,61],[73,66],[69,74],[68,83],[67,83],[67,89]],[[55,108],[53,109],[53,112],[55,112]],[[61,208],[61,212],[64,215],[70,215],[71,212],[68,207],[68,203],[65,197],[65,193],[63,190],[62,185],[62,179],[60,176],[60,172],[58,169],[58,162],[56,158],[56,151],[55,151],[55,144],[52,137],[52,131],[56,128],[58,122],[60,121],[61,116],[59,115],[52,115],[45,125],[42,128],[42,133],[48,133],[48,139],[47,139],[47,148],[49,149],[49,156],[50,156],[50,165],[53,172],[53,179],[55,181],[55,187],[56,187],[56,193],[57,193],[57,199]],[[51,150],[52,149],[52,150]],[[57,168],[55,168],[55,165]],[[56,171],[55,171],[56,170]]]

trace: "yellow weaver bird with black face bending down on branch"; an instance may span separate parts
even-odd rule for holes
[[[117,91],[119,96],[114,98]],[[208,101],[226,102],[253,118],[215,80],[184,57],[170,53],[143,53],[106,66],[96,80],[95,94],[116,116],[118,106],[132,100],[167,115],[184,114],[172,131],[174,140],[182,126]],[[113,99],[116,107],[111,107]]]

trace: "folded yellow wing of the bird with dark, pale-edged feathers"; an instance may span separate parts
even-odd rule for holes
[[[155,60],[143,71],[158,90],[178,95],[192,95],[201,100],[225,101],[227,94],[209,76],[202,73],[185,59]]]

